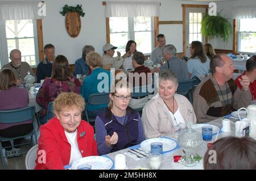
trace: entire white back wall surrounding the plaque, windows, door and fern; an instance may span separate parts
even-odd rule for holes
[[[127,0],[119,0],[127,1]],[[137,0],[130,0],[137,1]],[[156,0],[147,0],[156,1]],[[82,47],[85,44],[93,45],[96,51],[102,54],[102,46],[106,43],[105,6],[100,0],[46,0],[47,15],[43,19],[43,40],[44,44],[55,45],[57,54],[65,55],[70,64],[74,64],[77,58],[81,57]],[[182,20],[181,4],[205,4],[209,2],[195,1],[172,1],[162,0],[160,6],[159,20]],[[235,5],[256,4],[255,0],[243,0],[232,2],[217,2],[217,11],[224,9],[222,15],[230,18],[232,23],[232,7]],[[81,17],[81,32],[78,37],[72,38],[65,30],[65,17],[60,14],[64,5],[82,5],[85,16]],[[166,35],[167,44],[174,44],[177,52],[182,52],[183,30],[182,24],[161,24],[159,33]],[[233,39],[228,43],[222,40],[210,40],[216,49],[232,49]]]

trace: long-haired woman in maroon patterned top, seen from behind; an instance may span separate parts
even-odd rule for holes
[[[40,112],[41,123],[45,124],[47,122],[48,103],[53,101],[60,92],[80,94],[80,88],[81,82],[73,77],[67,58],[63,55],[57,56],[53,61],[51,78],[44,79],[43,85],[36,95],[36,102],[43,107]]]

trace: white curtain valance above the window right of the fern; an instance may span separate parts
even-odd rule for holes
[[[233,19],[256,18],[256,6],[237,6],[233,8]]]

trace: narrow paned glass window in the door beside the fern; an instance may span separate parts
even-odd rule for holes
[[[201,12],[189,12],[189,44],[191,44],[192,41],[202,41],[201,20]]]

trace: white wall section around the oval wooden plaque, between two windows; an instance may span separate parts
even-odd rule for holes
[[[46,16],[43,23],[44,45],[52,43],[55,55],[63,54],[74,64],[82,56],[84,45],[93,45],[98,53],[102,53],[102,46],[106,43],[105,6],[102,1],[81,0],[46,0]],[[85,16],[81,17],[81,31],[79,36],[72,38],[65,29],[65,16],[60,14],[64,5],[82,5]]]

